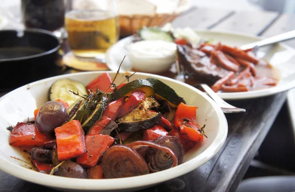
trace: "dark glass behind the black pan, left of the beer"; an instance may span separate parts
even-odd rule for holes
[[[26,27],[54,31],[64,26],[63,0],[22,0],[22,15]]]

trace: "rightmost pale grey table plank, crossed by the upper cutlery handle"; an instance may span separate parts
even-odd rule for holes
[[[295,30],[295,25],[292,25],[294,24],[294,21],[295,15],[282,14],[262,35],[264,37],[271,37],[291,30]],[[295,48],[295,40],[286,41],[284,43]]]

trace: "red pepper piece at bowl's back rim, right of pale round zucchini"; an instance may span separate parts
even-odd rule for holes
[[[89,82],[89,84],[86,86],[86,88],[93,89],[94,92],[96,92],[97,88],[101,91],[109,92],[115,88],[115,87],[113,87],[113,88],[110,87],[107,90],[107,88],[110,86],[111,83],[112,83],[112,78],[110,77],[110,75],[108,73],[103,73],[100,76],[98,76],[97,78],[95,78],[94,80],[92,80],[91,82]]]

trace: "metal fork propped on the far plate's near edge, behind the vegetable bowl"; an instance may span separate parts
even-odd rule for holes
[[[179,62],[176,61],[176,65],[177,65],[177,80],[178,81],[184,81],[184,69],[182,65],[179,65]],[[245,112],[245,109],[242,108],[237,108],[235,106],[232,106],[230,104],[228,104],[227,102],[225,102],[223,99],[221,99],[207,84],[204,83],[200,83],[198,84],[200,85],[209,95],[209,97],[211,97],[213,99],[213,101],[215,101],[215,103],[221,108],[221,110],[224,113],[234,113],[234,112]]]

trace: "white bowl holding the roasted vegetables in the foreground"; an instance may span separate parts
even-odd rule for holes
[[[176,178],[198,168],[209,161],[224,144],[228,132],[226,118],[222,110],[206,94],[183,82],[157,75],[136,73],[131,80],[148,77],[159,79],[174,88],[180,96],[184,97],[188,105],[199,107],[197,122],[200,125],[206,124],[205,133],[208,138],[188,151],[181,165],[148,175],[94,180],[39,173],[24,167],[30,165],[25,165],[24,162],[12,158],[28,161],[17,148],[9,145],[10,131],[6,130],[6,127],[14,126],[18,121],[25,121],[28,117],[33,117],[33,111],[47,101],[47,91],[53,82],[62,78],[71,78],[87,84],[101,73],[104,72],[84,72],[48,78],[24,85],[1,97],[0,169],[20,179],[61,191],[135,191]],[[108,73],[112,77],[115,76],[115,72]],[[121,82],[125,75],[125,73],[120,73],[116,82]]]

